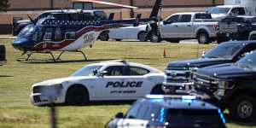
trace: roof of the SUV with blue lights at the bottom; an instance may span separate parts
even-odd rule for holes
[[[143,98],[142,102],[158,104],[165,108],[171,109],[206,109],[218,110],[211,103],[204,102],[200,99],[183,99],[183,98]]]

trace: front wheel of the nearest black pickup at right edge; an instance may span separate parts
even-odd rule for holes
[[[253,121],[256,118],[256,102],[252,96],[237,96],[230,104],[230,115],[241,122]]]

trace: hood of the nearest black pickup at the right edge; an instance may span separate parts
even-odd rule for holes
[[[211,67],[204,67],[197,73],[216,79],[250,79],[255,78],[256,72],[252,69],[238,67],[235,64],[221,64]]]

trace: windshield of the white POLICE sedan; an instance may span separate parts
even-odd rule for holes
[[[79,69],[77,72],[73,73],[71,76],[72,77],[77,77],[77,76],[95,76],[96,72],[101,68],[102,66],[87,66],[87,67],[82,67]]]

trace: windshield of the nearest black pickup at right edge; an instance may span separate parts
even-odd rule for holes
[[[256,70],[256,51],[253,51],[249,55],[244,56],[241,60],[237,61],[236,66],[242,68],[248,68],[252,70]]]

